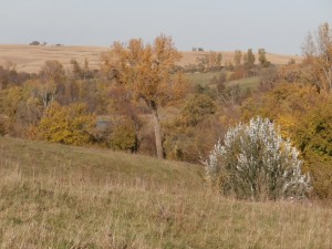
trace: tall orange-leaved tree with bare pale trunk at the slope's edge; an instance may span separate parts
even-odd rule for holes
[[[172,72],[180,53],[170,37],[157,37],[153,44],[144,44],[141,39],[132,39],[126,45],[115,42],[103,56],[102,70],[111,79],[123,84],[136,100],[143,100],[154,118],[157,157],[163,158],[159,108],[178,100],[184,92],[181,76]]]

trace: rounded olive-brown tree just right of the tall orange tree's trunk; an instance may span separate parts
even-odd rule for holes
[[[164,123],[166,157],[198,163],[220,135],[217,104],[207,94],[196,93],[179,107],[179,113]]]

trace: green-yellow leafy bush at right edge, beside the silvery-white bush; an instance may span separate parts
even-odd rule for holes
[[[332,100],[322,101],[303,116],[293,133],[305,166],[312,175],[313,193],[332,197]]]

